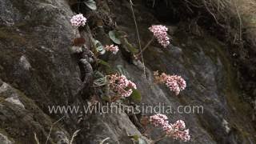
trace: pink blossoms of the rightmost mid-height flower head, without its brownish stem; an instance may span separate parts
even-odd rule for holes
[[[162,73],[160,78],[162,78],[171,91],[174,91],[175,95],[178,95],[180,91],[186,88],[186,81],[181,76]]]

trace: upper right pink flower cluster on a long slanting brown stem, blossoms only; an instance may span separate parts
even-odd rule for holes
[[[157,38],[158,42],[163,46],[167,47],[170,44],[170,38],[168,38],[166,31],[168,28],[162,25],[153,25],[149,30],[154,34],[154,37]]]

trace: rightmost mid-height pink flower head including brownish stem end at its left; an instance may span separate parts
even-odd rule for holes
[[[182,90],[186,88],[186,81],[178,75],[169,75],[166,73],[158,74],[158,71],[154,72],[154,82],[165,83],[166,86],[174,91],[175,95],[178,95]]]

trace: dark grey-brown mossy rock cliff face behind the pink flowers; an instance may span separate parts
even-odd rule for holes
[[[112,29],[125,33],[127,41],[122,39],[121,52],[117,55],[102,59],[110,63],[111,69],[125,71],[137,84],[142,94],[138,105],[154,106],[162,102],[174,111],[178,106],[203,106],[202,114],[168,115],[170,122],[177,119],[186,122],[191,135],[187,143],[256,142],[252,108],[242,99],[244,93],[238,87],[227,52],[230,47],[198,26],[190,25],[200,31],[200,36],[188,32],[189,24],[162,23],[170,29],[172,45],[163,49],[154,42],[143,53],[146,63],[146,78],[143,78],[141,64],[132,60],[127,51],[127,43],[138,47],[130,2],[97,1],[97,5],[96,11],[86,10],[85,6],[79,8],[90,27],[77,31],[70,25],[70,18],[78,9],[71,6],[72,11],[69,2],[0,2],[2,143],[35,143],[34,134],[40,143],[65,143],[75,130],[80,130],[76,143],[99,143],[105,138],[110,138],[108,142],[132,143],[128,135],[142,135],[139,114],[50,114],[48,110],[48,106],[87,106],[94,88],[87,77],[81,78],[83,71],[77,56],[70,53],[72,39],[81,35],[86,38],[86,47],[92,50],[90,37],[110,44],[107,33]],[[148,27],[160,23],[158,16],[150,11],[145,2],[134,2],[142,46],[151,37]],[[94,63],[91,66],[102,70]],[[154,70],[182,75],[187,82],[186,90],[175,96],[165,86],[154,84]],[[86,90],[80,93],[82,89]],[[158,130],[154,130],[151,137],[157,135]],[[167,138],[158,143],[182,142]]]

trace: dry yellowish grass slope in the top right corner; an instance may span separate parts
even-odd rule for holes
[[[254,39],[256,34],[256,0],[184,0],[186,6],[205,9],[215,22],[224,28],[233,29],[233,42],[246,38]],[[246,33],[246,34],[245,34]]]

